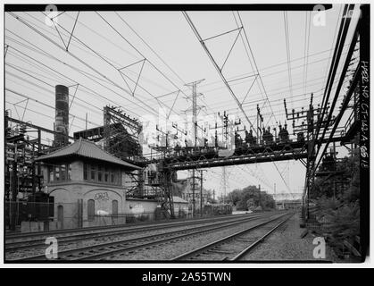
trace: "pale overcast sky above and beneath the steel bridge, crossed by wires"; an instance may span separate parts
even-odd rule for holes
[[[276,122],[285,122],[283,98],[287,98],[289,110],[308,105],[312,92],[314,102],[320,103],[340,13],[342,5],[334,4],[326,12],[324,26],[314,26],[315,13],[309,12],[204,11],[189,12],[188,15],[202,38],[237,29],[241,26],[240,15],[264,89],[258,77],[253,81],[256,71],[253,70],[253,58],[247,55],[245,37],[237,38],[222,72],[227,79],[244,78],[230,82],[232,90],[243,102],[245,113],[253,124],[256,105],[260,104],[264,122],[272,129]],[[181,12],[81,12],[70,40],[77,14],[65,12],[59,15],[55,29],[46,25],[42,12],[14,13],[27,25],[5,13],[5,44],[10,46],[5,58],[5,108],[12,111],[12,117],[23,117],[24,121],[53,129],[54,86],[57,84],[71,86],[71,98],[76,92],[71,105],[71,135],[74,131],[84,130],[86,114],[88,128],[103,125],[104,105],[121,105],[128,114],[138,118],[156,114],[161,106],[170,108],[178,89],[182,92],[171,114],[181,115],[191,107],[191,101],[184,98],[191,94],[185,84],[204,79],[197,88],[204,95],[198,99],[198,104],[205,106],[200,113],[216,114],[226,110],[229,114],[237,114],[249,129],[249,123],[245,122]],[[241,34],[245,36],[243,30]],[[206,41],[219,65],[224,63],[236,37],[237,31],[234,31]],[[64,47],[69,41],[67,53]],[[306,58],[306,55],[309,56]],[[134,88],[134,84],[131,80],[137,81],[144,58],[146,61],[132,97],[129,88]],[[131,79],[128,86],[118,70],[132,63],[136,64],[122,70]],[[270,105],[264,105],[266,96]],[[27,97],[29,102],[21,102]],[[18,107],[14,105],[17,103]],[[288,127],[292,133],[291,122]],[[45,138],[48,139],[53,138]],[[276,183],[277,192],[287,192],[278,173],[281,172],[289,189],[301,193],[305,175],[303,164],[290,161],[277,163],[277,166],[278,171],[272,163],[227,167],[228,190],[262,184],[263,189],[272,192]],[[221,172],[221,168],[207,172],[205,187],[220,193]]]

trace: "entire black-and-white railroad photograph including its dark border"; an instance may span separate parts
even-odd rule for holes
[[[370,259],[369,2],[3,9],[4,265]]]

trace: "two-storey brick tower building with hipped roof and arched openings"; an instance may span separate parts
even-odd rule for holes
[[[54,197],[54,221],[59,228],[126,223],[126,181],[140,167],[104,152],[95,143],[78,139],[36,159],[43,162],[45,190]]]

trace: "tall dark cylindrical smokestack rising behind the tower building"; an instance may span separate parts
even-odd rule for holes
[[[57,85],[55,87],[55,123],[54,130],[60,134],[54,134],[54,147],[68,145],[69,139],[69,88]]]

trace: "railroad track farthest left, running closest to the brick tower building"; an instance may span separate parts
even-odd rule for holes
[[[12,236],[12,239],[5,237],[5,251],[17,251],[27,248],[36,248],[36,247],[46,247],[45,241],[47,237],[54,236],[58,239],[59,244],[77,242],[80,240],[99,240],[104,239],[108,236],[118,236],[130,233],[136,233],[139,231],[156,231],[162,230],[165,228],[179,227],[179,226],[188,226],[199,223],[212,223],[220,221],[235,221],[241,217],[252,217],[253,215],[258,214],[244,214],[237,215],[235,217],[219,217],[219,218],[210,218],[210,219],[198,219],[198,220],[188,220],[175,223],[156,223],[156,224],[146,224],[146,225],[137,225],[137,226],[114,226],[114,227],[95,227],[89,228],[87,230],[73,230],[73,231],[43,231],[43,233],[29,233],[28,235],[15,235]]]

